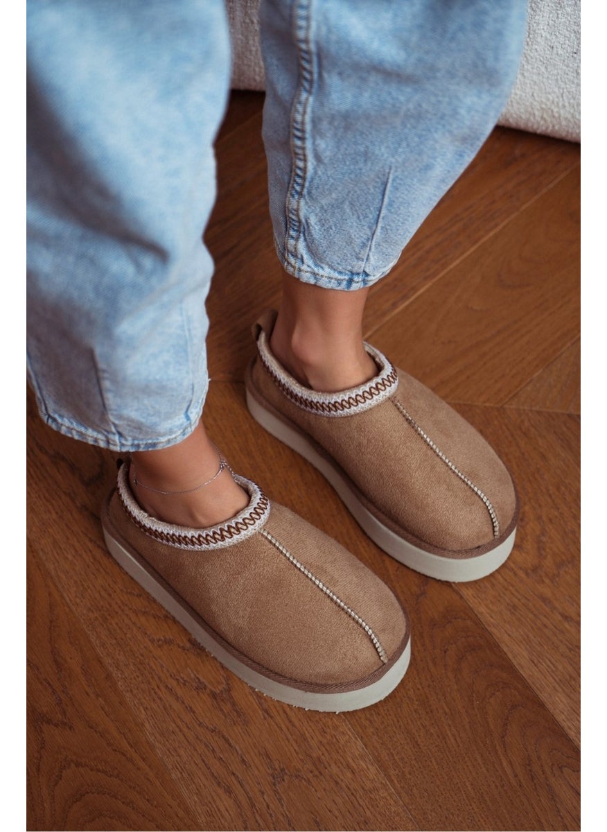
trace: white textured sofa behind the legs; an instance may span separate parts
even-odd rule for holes
[[[264,89],[259,0],[228,0],[232,87]],[[500,124],[580,141],[580,0],[529,0],[521,70]]]

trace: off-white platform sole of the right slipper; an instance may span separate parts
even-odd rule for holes
[[[514,547],[516,528],[499,546],[476,557],[442,557],[433,552],[426,552],[413,543],[404,540],[378,520],[360,502],[348,480],[333,468],[328,459],[321,456],[299,431],[289,428],[289,425],[284,423],[282,419],[277,418],[262,404],[259,404],[254,395],[249,393],[249,389],[246,389],[246,397],[249,413],[254,420],[268,433],[301,454],[314,468],[318,468],[318,471],[328,479],[328,482],[337,491],[346,508],[363,528],[363,531],[371,537],[374,543],[378,544],[378,547],[397,561],[404,563],[405,566],[440,581],[477,581],[479,578],[495,572],[510,555],[512,547]]]

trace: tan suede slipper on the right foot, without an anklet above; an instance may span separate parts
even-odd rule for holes
[[[256,421],[318,468],[368,536],[408,567],[446,581],[500,567],[518,501],[480,433],[369,344],[378,375],[367,384],[336,394],[303,387],[269,349],[275,319],[268,310],[253,329],[245,382]]]

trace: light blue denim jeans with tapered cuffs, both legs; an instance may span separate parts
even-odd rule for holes
[[[285,270],[387,274],[496,123],[525,22],[526,0],[264,2]],[[200,418],[228,88],[220,0],[28,2],[28,374],[68,436],[164,448]]]

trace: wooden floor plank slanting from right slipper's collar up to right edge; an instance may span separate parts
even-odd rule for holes
[[[373,344],[449,401],[511,399],[580,334],[579,174],[392,314]]]

